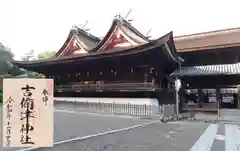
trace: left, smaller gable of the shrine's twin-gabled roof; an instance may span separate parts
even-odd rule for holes
[[[63,46],[52,58],[68,56],[74,51],[78,51],[78,53],[87,53],[96,47],[99,42],[99,38],[89,34],[79,27],[74,26],[70,30]]]

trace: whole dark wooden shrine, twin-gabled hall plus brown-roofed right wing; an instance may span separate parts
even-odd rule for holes
[[[74,27],[51,58],[12,63],[53,78],[55,96],[64,97],[154,97],[170,104],[177,77],[181,103],[216,110],[240,108],[239,49],[240,28],[150,40],[117,16],[102,39]]]

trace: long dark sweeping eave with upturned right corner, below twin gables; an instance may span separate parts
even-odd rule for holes
[[[94,60],[100,58],[107,58],[107,57],[115,57],[115,56],[125,56],[131,54],[137,54],[141,52],[146,52],[153,50],[155,48],[161,47],[163,49],[157,49],[159,53],[166,54],[173,62],[177,63],[179,58],[176,54],[176,48],[173,41],[172,32],[164,35],[163,37],[148,42],[146,44],[142,44],[139,46],[127,47],[127,48],[120,48],[114,49],[113,51],[97,51],[92,53],[86,53],[82,55],[75,55],[75,56],[63,56],[60,58],[49,58],[46,60],[36,60],[36,61],[14,61],[11,62],[20,68],[28,68],[30,66],[38,66],[43,64],[59,64],[59,63],[67,63],[73,61],[80,61],[80,60]]]

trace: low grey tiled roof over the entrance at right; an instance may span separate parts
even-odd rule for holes
[[[171,76],[214,76],[240,74],[240,63],[190,66],[175,70]]]

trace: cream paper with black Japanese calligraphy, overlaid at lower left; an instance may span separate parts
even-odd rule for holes
[[[53,146],[53,80],[3,80],[3,147]]]

